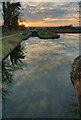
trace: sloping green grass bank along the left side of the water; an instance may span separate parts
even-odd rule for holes
[[[2,37],[2,59],[4,59],[23,39],[29,38],[29,33],[16,33]]]

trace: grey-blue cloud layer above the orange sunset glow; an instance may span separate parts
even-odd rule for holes
[[[28,2],[23,3],[22,16],[31,22],[55,22],[66,21],[69,18],[78,17],[79,6],[76,2]],[[76,16],[75,16],[76,15]],[[77,21],[77,19],[74,19]]]

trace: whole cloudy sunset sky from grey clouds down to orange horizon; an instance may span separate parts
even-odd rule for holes
[[[78,2],[23,2],[21,19],[28,26],[79,25]]]

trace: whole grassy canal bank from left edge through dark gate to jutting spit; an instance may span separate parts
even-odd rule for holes
[[[57,39],[60,37],[58,34],[51,34],[47,31],[21,32],[14,35],[2,37],[2,60],[4,60],[23,40],[29,37],[39,37],[40,39]]]

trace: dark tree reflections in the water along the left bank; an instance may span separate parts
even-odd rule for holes
[[[2,99],[3,103],[6,102],[7,96],[11,93],[10,88],[13,84],[13,71],[12,65],[17,65],[22,58],[24,59],[24,53],[21,50],[21,45],[19,44],[6,58],[2,61]]]

